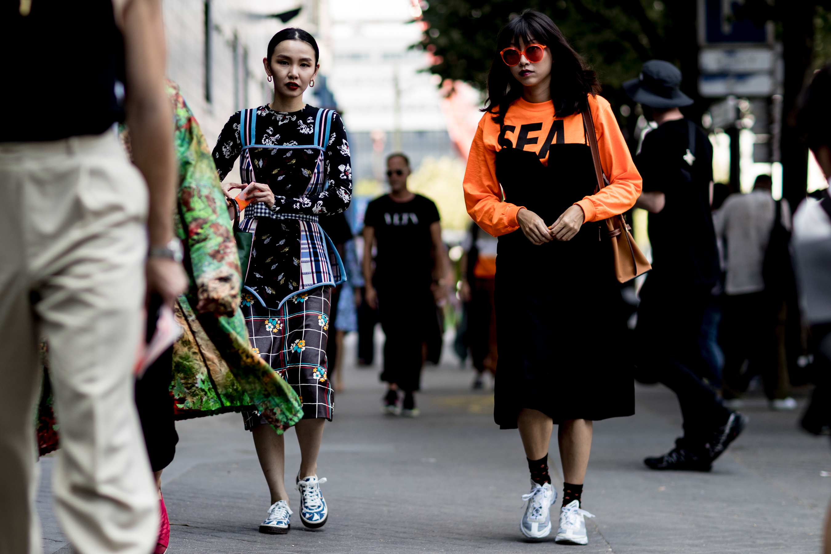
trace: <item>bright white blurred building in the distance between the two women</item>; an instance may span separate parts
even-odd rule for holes
[[[384,181],[384,159],[404,151],[418,169],[427,157],[454,156],[430,54],[420,42],[419,2],[338,0],[329,5],[329,82],[342,110],[356,181]]]

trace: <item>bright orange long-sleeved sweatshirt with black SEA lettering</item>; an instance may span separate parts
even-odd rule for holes
[[[641,195],[641,175],[638,174],[632,156],[629,155],[626,141],[623,140],[612,113],[612,106],[602,96],[591,95],[588,96],[588,105],[592,110],[597,134],[600,163],[609,184],[597,194],[586,196],[576,202],[583,208],[583,223],[600,221],[626,212],[635,205],[637,197]],[[554,144],[553,148],[556,148],[555,143],[588,144],[583,132],[583,115],[575,114],[556,119],[553,115],[552,101],[532,104],[519,98],[510,105],[505,116],[504,124],[514,126],[513,132],[506,130],[505,138],[510,140],[515,148],[521,146],[523,150],[533,150],[537,153],[544,148],[546,154],[540,161],[546,165],[549,145]],[[542,129],[530,132],[521,130],[522,125],[534,123],[542,123]],[[557,127],[554,133],[549,135],[552,125]],[[563,140],[556,136],[558,132],[563,132]],[[551,143],[543,144],[548,136],[551,137]],[[517,212],[519,208],[524,208],[502,200],[502,189],[499,180],[496,179],[496,152],[500,150],[498,140],[499,125],[493,120],[493,115],[485,113],[479,120],[479,128],[476,130],[473,144],[470,145],[463,185],[465,204],[470,217],[494,237],[517,230]],[[520,143],[519,146],[517,142]]]

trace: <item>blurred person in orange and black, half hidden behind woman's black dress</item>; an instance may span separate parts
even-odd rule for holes
[[[484,373],[494,379],[496,362],[496,304],[494,302],[494,279],[496,277],[497,238],[485,233],[476,223],[470,223],[462,247],[461,297],[465,302],[467,328],[465,346],[470,346],[470,355],[476,370],[473,388],[484,388]]]

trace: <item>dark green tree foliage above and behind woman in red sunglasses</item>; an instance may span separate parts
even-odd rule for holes
[[[621,114],[623,105],[635,107],[622,90],[622,82],[638,75],[643,61],[671,61],[681,68],[681,89],[698,96],[698,45],[696,2],[693,0],[431,0],[423,19],[429,23],[424,41],[440,63],[430,71],[443,79],[459,79],[485,89],[485,78],[496,51],[499,29],[525,7],[553,19],[572,46],[597,71],[605,96],[632,130],[635,117]],[[706,110],[696,102],[689,110],[699,120]]]

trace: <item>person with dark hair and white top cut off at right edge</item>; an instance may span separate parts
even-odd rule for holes
[[[831,66],[817,71],[799,112],[799,127],[831,185]],[[831,196],[829,189],[804,199],[794,213],[794,267],[799,303],[810,326],[814,397],[802,426],[821,434],[831,426]],[[831,507],[826,514],[824,554],[831,554]]]

